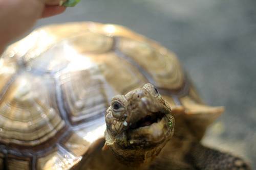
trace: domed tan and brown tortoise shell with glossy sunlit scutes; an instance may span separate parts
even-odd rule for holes
[[[111,98],[148,82],[187,115],[209,109],[172,52],[115,25],[37,29],[7,48],[0,80],[4,169],[71,168],[103,137]]]

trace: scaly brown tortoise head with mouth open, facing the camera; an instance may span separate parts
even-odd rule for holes
[[[120,162],[150,162],[174,133],[171,109],[152,84],[116,95],[106,110],[105,146]]]

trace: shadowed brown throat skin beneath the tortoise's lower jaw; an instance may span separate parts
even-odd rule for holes
[[[125,136],[120,137],[119,139],[111,138],[111,136],[108,133],[108,130],[105,131],[105,139],[110,143],[111,141],[114,141],[114,140],[121,140],[124,145],[126,142]],[[132,166],[132,167],[140,167],[143,169],[148,167],[151,164],[151,162],[160,153],[160,151],[162,150],[165,144],[166,143],[163,142],[159,144],[157,147],[144,150],[139,147],[134,149],[130,149],[130,148],[124,149],[122,145],[120,145],[118,142],[113,142],[110,144],[111,145],[110,149],[120,163],[127,166]]]

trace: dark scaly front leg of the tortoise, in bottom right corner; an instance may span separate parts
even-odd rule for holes
[[[196,169],[233,169],[249,170],[249,165],[239,157],[204,147],[200,143],[193,144],[187,155],[187,161]]]

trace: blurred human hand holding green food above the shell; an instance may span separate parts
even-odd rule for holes
[[[59,0],[0,0],[0,54],[39,18],[60,14],[65,9],[59,6]]]

